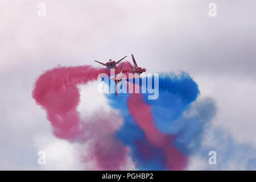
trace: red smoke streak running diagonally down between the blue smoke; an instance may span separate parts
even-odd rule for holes
[[[181,154],[172,145],[174,136],[162,134],[155,128],[153,123],[153,115],[151,106],[148,106],[141,94],[130,94],[127,100],[127,105],[130,114],[133,116],[134,121],[141,127],[146,135],[148,142],[159,147],[167,157],[166,169],[183,170],[186,167],[188,158]],[[142,146],[139,150],[146,150]]]

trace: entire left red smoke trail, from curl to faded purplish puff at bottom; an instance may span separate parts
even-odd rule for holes
[[[70,142],[84,142],[84,135],[88,130],[86,123],[81,121],[77,106],[80,93],[77,85],[97,80],[100,73],[107,73],[107,69],[97,69],[90,66],[60,67],[44,72],[35,82],[32,97],[47,113],[47,118],[53,127],[57,138]],[[94,114],[90,118],[97,123],[90,126],[90,131],[97,135],[90,135],[90,160],[96,162],[98,169],[118,170],[126,163],[127,148],[117,141],[113,135],[113,127],[105,127],[105,123],[113,123],[112,113],[104,115]],[[101,130],[104,130],[102,132]],[[88,156],[86,157],[88,158]]]

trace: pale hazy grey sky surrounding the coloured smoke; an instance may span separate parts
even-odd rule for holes
[[[209,3],[216,3],[217,17],[209,17]],[[255,7],[254,0],[0,0],[0,169],[82,169],[80,146],[53,136],[32,100],[33,83],[57,65],[98,66],[93,60],[131,60],[130,53],[148,73],[188,72],[200,97],[216,102],[213,127],[255,150]],[[83,114],[106,102],[94,87],[81,86]],[[37,163],[40,150],[46,166]],[[207,169],[205,163],[195,156],[188,169]]]

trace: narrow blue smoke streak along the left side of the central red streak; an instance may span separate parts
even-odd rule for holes
[[[117,131],[115,137],[125,143],[126,146],[129,146],[131,158],[135,162],[136,167],[140,170],[164,170],[165,159],[162,151],[147,142],[143,131],[137,126],[128,111],[126,100],[129,95],[122,94],[122,96],[115,97],[113,94],[106,94],[106,97],[109,100],[109,105],[122,113],[123,125]],[[146,146],[150,152],[150,154],[147,154],[151,157],[150,160],[138,150],[140,146]]]

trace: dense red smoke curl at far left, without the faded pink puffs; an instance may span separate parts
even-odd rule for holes
[[[96,80],[105,69],[89,66],[53,68],[35,83],[32,97],[47,111],[53,132],[58,138],[73,139],[82,131],[79,125],[80,93],[77,85]]]

